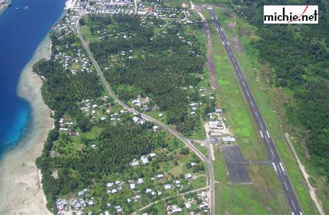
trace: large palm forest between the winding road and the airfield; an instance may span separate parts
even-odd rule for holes
[[[185,134],[193,130],[200,119],[191,116],[187,111],[188,104],[193,98],[194,102],[202,99],[182,88],[196,86],[201,80],[198,75],[203,72],[205,55],[196,37],[186,35],[185,26],[180,23],[168,24],[154,18],[143,20],[135,15],[114,15],[111,19],[108,28],[103,26],[103,18],[95,19],[92,16],[88,18],[87,25],[92,33],[106,30],[126,37],[105,35],[102,40],[90,43],[90,49],[100,65],[110,67],[106,78],[119,98],[128,101],[138,94],[149,96],[161,111],[167,111],[168,123],[175,124]],[[152,24],[146,25],[145,22]],[[194,28],[199,31],[201,25],[195,24]],[[134,51],[133,59],[123,58],[121,62],[111,60],[114,55],[130,51]],[[214,109],[211,108],[214,101],[203,102],[209,107],[205,110]]]

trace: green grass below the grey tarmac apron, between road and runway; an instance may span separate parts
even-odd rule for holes
[[[249,166],[252,184],[231,184],[223,155],[215,150],[215,214],[289,214],[280,183],[268,166]]]

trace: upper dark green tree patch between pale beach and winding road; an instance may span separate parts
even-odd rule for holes
[[[67,112],[78,114],[79,101],[97,98],[103,93],[103,87],[95,73],[69,76],[67,71],[53,60],[40,60],[33,66],[33,71],[45,78],[42,96],[51,110],[56,111],[56,119]]]

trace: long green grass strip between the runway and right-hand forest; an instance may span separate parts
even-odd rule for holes
[[[260,107],[260,111],[267,123],[267,126],[273,136],[276,146],[278,147],[280,157],[282,158],[288,173],[289,178],[292,181],[293,187],[296,191],[296,195],[301,203],[306,214],[317,214],[317,208],[315,207],[310,194],[308,193],[307,184],[301,175],[301,171],[298,169],[298,164],[292,151],[289,148],[287,140],[285,138],[285,125],[282,125],[279,117],[284,117],[284,103],[291,97],[291,92],[282,89],[273,88],[266,83],[266,76],[264,71],[266,67],[261,65],[258,61],[257,51],[251,47],[251,40],[257,40],[258,37],[255,34],[253,26],[246,23],[244,19],[239,17],[233,17],[231,12],[223,12],[215,8],[217,17],[223,25],[228,40],[231,44],[233,37],[236,37],[239,41],[240,46],[243,48],[239,50],[239,45],[233,45],[233,51],[239,64],[244,71],[246,79],[248,80],[249,86],[255,96],[255,99]],[[236,24],[233,23],[236,21]],[[273,110],[276,110],[275,112]],[[281,114],[283,113],[283,115]]]

